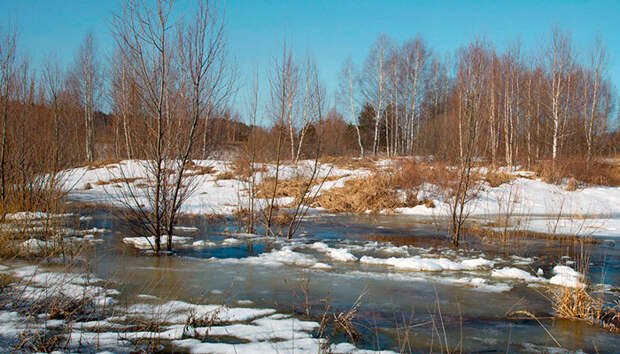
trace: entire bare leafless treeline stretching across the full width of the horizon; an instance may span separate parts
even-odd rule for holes
[[[309,58],[298,61],[285,44],[264,70],[267,78],[256,77],[267,85],[249,90],[257,91],[252,113],[228,103],[241,80],[226,55],[215,7],[198,29],[211,52],[202,52],[203,66],[192,67],[200,48],[191,38],[179,39],[191,21],[175,24],[179,28],[161,41],[166,48],[159,56],[134,47],[144,39],[132,37],[141,29],[127,19],[141,3],[127,1],[114,14],[119,30],[113,53],[99,52],[87,34],[66,68],[49,55],[35,70],[20,54],[17,28],[2,31],[2,195],[8,185],[41,172],[95,160],[148,159],[155,154],[153,139],[163,139],[178,155],[190,135],[191,158],[254,141],[261,159],[274,159],[278,150],[285,159],[312,157],[320,143],[323,155],[456,161],[474,132],[473,155],[493,165],[590,160],[618,151],[617,93],[598,39],[577,50],[567,33],[553,29],[538,51],[526,53],[519,42],[498,51],[479,39],[443,56],[419,36],[396,43],[381,35],[359,69],[352,59],[343,64],[333,102],[317,66]],[[153,4],[156,9],[161,2]],[[157,20],[156,11],[144,16]],[[259,95],[263,86],[269,92]]]

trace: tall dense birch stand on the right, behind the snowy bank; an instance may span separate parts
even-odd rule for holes
[[[558,29],[536,53],[476,40],[444,60],[420,37],[398,45],[383,35],[358,73],[345,63],[343,112],[373,154],[461,156],[465,111],[475,109],[475,155],[492,164],[590,159],[618,145],[608,60],[599,40],[580,52]]]

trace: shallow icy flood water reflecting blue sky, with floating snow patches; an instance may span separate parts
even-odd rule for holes
[[[164,301],[252,304],[300,318],[308,311],[316,321],[326,308],[346,314],[354,307],[360,334],[356,346],[397,352],[442,351],[446,343],[465,352],[549,351],[558,344],[585,352],[616,352],[620,347],[620,337],[603,329],[553,319],[548,284],[491,276],[493,270],[517,267],[533,276],[540,269],[541,278],[548,279],[556,265],[576,267],[572,262],[581,249],[571,243],[500,244],[466,237],[456,250],[429,220],[342,215],[310,217],[293,240],[286,241],[238,234],[234,223],[225,220],[186,218],[179,225],[197,231],[178,234],[211,246],[189,243],[177,247],[174,256],[152,257],[123,244],[127,233],[111,213],[94,209],[83,215],[92,216],[83,227],[111,230],[91,255],[92,271],[115,281],[129,303],[149,294]],[[344,253],[355,260],[344,261]],[[588,245],[587,254],[587,278],[602,290],[599,295],[618,294],[620,249],[615,240]],[[377,261],[410,257],[442,258],[451,265],[482,258],[492,265],[420,271]],[[540,323],[515,314],[519,310]],[[345,338],[331,330],[335,338]]]

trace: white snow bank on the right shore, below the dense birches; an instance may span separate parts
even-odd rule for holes
[[[529,175],[528,171],[520,172]],[[432,199],[436,207],[418,205],[399,208],[397,212],[432,217],[449,215],[449,206],[436,186],[424,184],[420,194]],[[567,191],[562,186],[517,177],[498,187],[485,186],[466,205],[466,213],[489,221],[500,214],[520,216],[521,230],[620,237],[620,187],[589,186]]]

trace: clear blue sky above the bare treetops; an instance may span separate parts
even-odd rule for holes
[[[69,63],[92,30],[103,53],[112,47],[110,18],[119,0],[0,0],[2,22],[16,23],[20,47],[40,64],[51,51]],[[187,0],[179,0],[187,6]],[[359,66],[385,32],[402,42],[421,34],[440,53],[485,36],[498,49],[519,39],[525,52],[543,45],[557,24],[570,31],[582,56],[599,34],[608,46],[609,72],[620,86],[620,1],[364,1],[228,0],[227,32],[242,76],[265,67],[284,38],[298,55],[309,51],[330,92],[343,61]],[[243,92],[243,90],[242,90]]]

